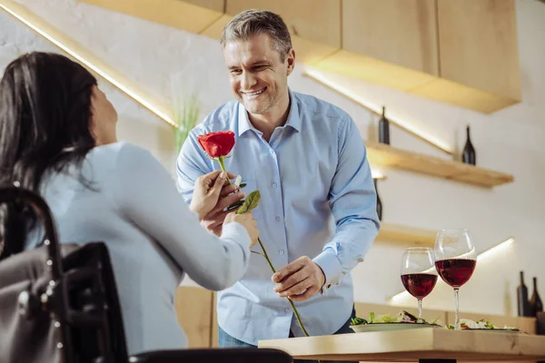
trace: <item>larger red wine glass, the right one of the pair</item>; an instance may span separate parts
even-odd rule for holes
[[[471,240],[470,231],[439,231],[435,239],[434,253],[435,268],[439,276],[454,289],[454,309],[456,309],[454,329],[459,330],[458,290],[470,280],[477,263],[477,252]]]

